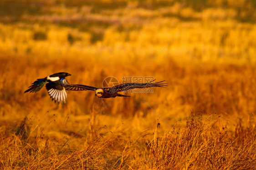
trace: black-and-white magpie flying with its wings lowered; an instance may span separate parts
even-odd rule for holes
[[[52,100],[54,100],[55,102],[58,100],[58,103],[60,103],[61,101],[61,104],[63,102],[66,103],[67,92],[63,85],[68,84],[65,77],[69,75],[71,74],[68,74],[66,72],[60,72],[48,75],[43,79],[37,79],[36,81],[34,81],[34,83],[32,83],[31,86],[28,87],[29,89],[26,90],[24,93],[36,93],[37,91],[41,90],[41,88],[46,84],[46,89]]]

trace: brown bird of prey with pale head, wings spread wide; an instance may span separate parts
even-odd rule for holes
[[[165,80],[164,80],[165,81]],[[113,87],[104,87],[97,88],[88,85],[64,85],[66,90],[73,91],[83,91],[83,90],[93,90],[95,91],[95,95],[100,98],[111,98],[111,97],[130,97],[128,95],[121,95],[118,92],[127,91],[136,88],[149,88],[149,87],[165,87],[167,83],[162,83],[164,81],[159,81],[154,83],[150,81],[148,83],[123,83],[120,85],[115,85]]]

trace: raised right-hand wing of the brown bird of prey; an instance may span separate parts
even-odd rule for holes
[[[165,80],[164,80],[165,81]],[[130,89],[136,89],[136,88],[149,88],[149,87],[166,87],[167,83],[162,83],[164,81],[155,82],[150,81],[148,83],[123,83],[120,85],[113,86],[111,90],[116,91],[127,91]]]

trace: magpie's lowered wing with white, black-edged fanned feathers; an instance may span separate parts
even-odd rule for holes
[[[51,96],[52,100],[55,102],[58,101],[58,103],[66,103],[67,99],[67,92],[65,88],[63,87],[63,84],[61,81],[51,81],[46,84],[46,89],[48,91],[48,94]]]

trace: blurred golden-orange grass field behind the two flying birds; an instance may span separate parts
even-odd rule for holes
[[[178,130],[193,113],[235,136],[238,122],[255,127],[255,21],[255,0],[1,0],[0,130],[15,133],[26,117],[31,136],[64,144],[79,133],[78,148],[111,131],[123,146],[158,122],[160,135]],[[114,99],[67,91],[64,105],[45,88],[24,94],[61,71],[71,84],[153,76],[169,86]]]

